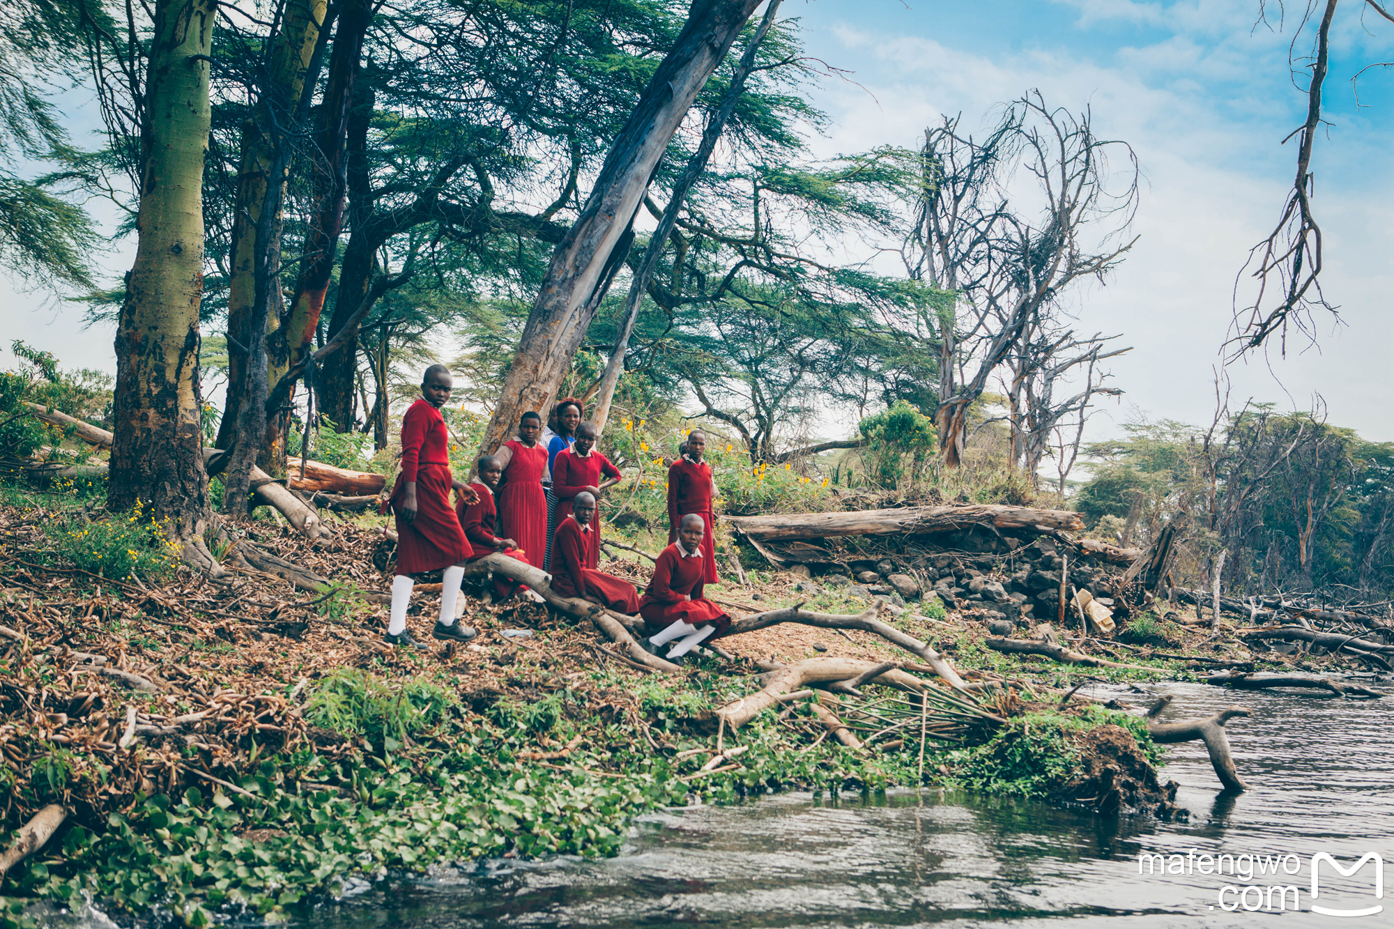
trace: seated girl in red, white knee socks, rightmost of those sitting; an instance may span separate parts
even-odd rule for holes
[[[701,596],[707,583],[703,565],[705,533],[705,520],[697,513],[687,513],[677,523],[677,541],[658,555],[654,577],[638,601],[638,614],[651,633],[644,649],[651,654],[659,654],[659,646],[673,642],[664,657],[680,658],[698,643],[730,628],[726,611]]]

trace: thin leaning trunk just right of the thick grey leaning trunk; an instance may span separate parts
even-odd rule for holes
[[[668,198],[668,208],[664,211],[662,219],[658,220],[658,229],[654,230],[652,237],[648,240],[648,248],[644,251],[644,259],[640,262],[638,271],[634,272],[634,278],[629,285],[629,297],[625,300],[625,318],[620,322],[619,336],[615,339],[615,347],[611,349],[611,356],[605,361],[605,372],[601,375],[599,395],[595,400],[595,411],[591,414],[591,423],[595,425],[597,432],[605,431],[605,420],[609,418],[611,400],[615,399],[615,386],[619,384],[619,375],[625,371],[625,352],[629,349],[629,338],[634,332],[634,321],[638,318],[638,308],[644,303],[644,292],[648,289],[648,279],[654,275],[654,269],[658,266],[658,259],[664,254],[664,243],[668,241],[668,236],[672,234],[673,226],[677,225],[677,211],[682,209],[683,199],[687,198],[687,191],[691,190],[697,179],[707,169],[707,159],[711,158],[711,152],[717,148],[717,139],[726,128],[726,120],[730,119],[732,110],[736,109],[736,100],[740,99],[742,92],[746,89],[746,78],[750,77],[750,71],[756,67],[756,52],[760,50],[760,43],[765,40],[765,35],[769,32],[769,27],[774,25],[775,14],[779,11],[781,0],[769,0],[765,7],[765,15],[760,21],[760,28],[756,29],[756,35],[750,38],[750,45],[746,46],[744,53],[740,56],[740,64],[736,66],[736,73],[730,78],[730,86],[726,89],[726,96],[722,98],[721,106],[711,119],[707,121],[707,128],[703,131],[701,144],[693,156],[687,159],[687,167],[683,170],[683,176],[677,180],[673,187],[672,195]],[[680,259],[679,259],[680,262]],[[673,272],[675,279],[679,279],[680,268]],[[675,290],[676,293],[676,290]]]

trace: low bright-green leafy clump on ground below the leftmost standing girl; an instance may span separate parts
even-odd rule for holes
[[[367,671],[340,668],[315,685],[305,702],[305,720],[392,750],[441,723],[454,704],[449,690],[421,678],[388,683]]]

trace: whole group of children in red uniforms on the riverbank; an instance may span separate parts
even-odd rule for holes
[[[581,402],[558,403],[545,437],[542,417],[524,413],[517,437],[481,458],[478,481],[464,484],[450,473],[449,432],[441,416],[452,386],[450,371],[431,365],[422,375],[421,398],[401,418],[401,474],[388,501],[397,522],[389,644],[428,649],[407,630],[407,605],[413,575],[442,569],[441,615],[431,635],[473,639],[475,630],[454,617],[464,566],[495,552],[551,572],[551,587],[562,597],[643,617],[650,633],[643,644],[652,654],[677,660],[726,632],[730,618],[703,597],[704,584],[719,577],[712,533],[717,484],[703,460],[707,438],[701,431],[689,435],[668,469],[669,545],[638,596],[627,580],[599,571],[599,498],[622,476],[595,448],[598,435],[583,421]],[[495,593],[502,598],[531,591],[496,580]]]

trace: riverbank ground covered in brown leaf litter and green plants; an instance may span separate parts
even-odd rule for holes
[[[1008,725],[852,750],[828,738],[809,702],[739,732],[718,727],[712,710],[760,688],[757,661],[906,660],[868,632],[772,626],[719,640],[733,661],[708,654],[664,675],[531,603],[466,596],[463,621],[478,637],[434,642],[438,597],[427,594],[408,625],[435,647],[413,653],[383,644],[386,607],[360,596],[388,589],[374,568],[375,520],[339,522],[315,545],[255,524],[258,545],[335,582],[314,594],[245,571],[230,583],[183,569],[112,580],[91,571],[91,550],[74,548],[120,529],[102,519],[71,498],[0,505],[3,829],[49,803],[67,810],[59,836],[0,884],[13,896],[0,926],[32,925],[24,900],[77,894],[127,911],[159,904],[192,925],[219,908],[275,918],[305,897],[339,893],[351,875],[612,854],[629,819],[655,806],[771,790],[958,783],[1050,796],[1100,767],[1097,745],[1114,762],[1131,753],[1121,766],[1133,774],[1160,759],[1139,707],[1085,700],[1061,711],[1055,700],[1068,688],[1196,679],[1217,660],[1317,668],[1313,658],[1253,654],[1232,626],[1214,636],[1179,617],[1147,626],[1160,644],[1064,633],[1071,649],[1143,665],[1118,668],[1002,654],[986,647],[972,618],[906,615],[898,628],[983,685],[983,706]],[[643,583],[645,564],[634,555],[602,566]],[[870,605],[846,589],[807,587],[751,571],[747,584],[726,579],[707,593],[733,617],[797,603],[845,614]],[[875,700],[864,706],[895,711],[892,697]],[[1011,764],[998,750],[1006,738],[1020,742]],[[1149,777],[1138,798],[1119,802],[1157,801],[1165,791]]]

